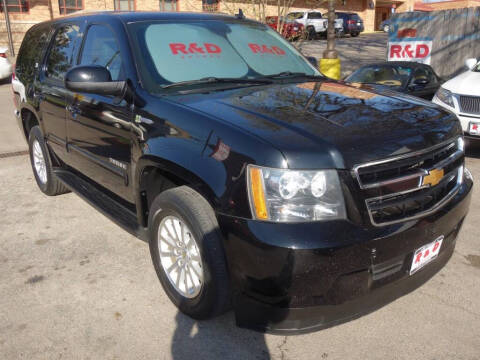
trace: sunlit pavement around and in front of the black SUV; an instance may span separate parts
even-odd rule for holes
[[[8,85],[0,108],[0,145],[24,148]],[[467,159],[477,179],[479,158],[477,146]],[[0,358],[479,359],[479,195],[451,261],[423,287],[350,323],[281,337],[238,329],[231,313],[178,313],[147,244],[74,194],[44,196],[27,156],[0,158]]]

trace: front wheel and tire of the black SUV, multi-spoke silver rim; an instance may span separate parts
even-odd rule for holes
[[[230,307],[223,241],[210,204],[187,186],[166,190],[149,215],[150,254],[170,300],[194,319],[210,319]]]

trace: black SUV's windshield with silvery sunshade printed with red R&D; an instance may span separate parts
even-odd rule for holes
[[[269,27],[225,21],[137,22],[129,31],[145,88],[204,78],[257,79],[281,72],[320,75]]]

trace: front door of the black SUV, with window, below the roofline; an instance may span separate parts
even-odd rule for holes
[[[106,24],[87,28],[78,65],[106,67],[112,80],[125,80],[122,53]],[[125,100],[88,93],[67,94],[67,136],[71,166],[133,202],[129,178],[132,111]]]

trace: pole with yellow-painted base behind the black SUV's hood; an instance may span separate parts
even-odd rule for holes
[[[335,0],[328,0],[327,49],[320,59],[320,71],[332,79],[340,79],[340,59],[335,50]]]

